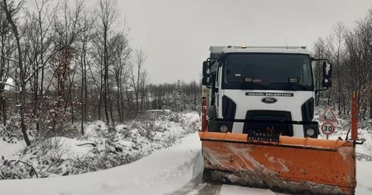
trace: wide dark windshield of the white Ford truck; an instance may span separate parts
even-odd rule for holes
[[[310,55],[233,53],[226,57],[224,88],[262,90],[314,89]],[[295,82],[289,82],[289,79]],[[244,85],[242,85],[244,84]]]

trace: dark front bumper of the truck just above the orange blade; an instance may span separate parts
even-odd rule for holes
[[[320,134],[317,121],[231,120],[225,118],[210,119],[208,121],[208,131],[222,132],[221,126],[226,126],[227,132],[232,132],[234,123],[244,123],[243,133],[280,133],[284,136],[294,136],[293,126],[296,125],[302,126],[304,137],[318,138]]]

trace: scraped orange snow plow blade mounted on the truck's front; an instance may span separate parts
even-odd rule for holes
[[[355,146],[343,140],[200,131],[203,181],[289,194],[355,193]],[[262,140],[262,139],[261,139]]]

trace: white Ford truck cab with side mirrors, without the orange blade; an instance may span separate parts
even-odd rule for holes
[[[331,86],[332,65],[305,46],[211,46],[203,62],[207,129],[277,133],[317,138],[315,91]],[[322,89],[315,90],[313,61],[323,62]]]

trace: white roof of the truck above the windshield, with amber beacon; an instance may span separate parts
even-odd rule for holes
[[[222,52],[231,53],[231,52],[262,52],[262,53],[304,53],[310,54],[305,46],[247,46],[242,48],[241,46],[211,46],[209,48],[211,56],[216,56]]]

